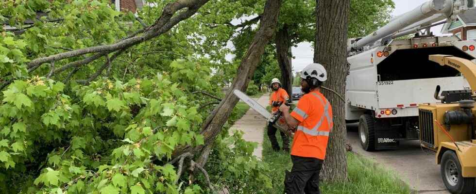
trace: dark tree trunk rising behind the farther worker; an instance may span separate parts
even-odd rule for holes
[[[284,24],[283,28],[276,32],[275,36],[276,54],[278,58],[279,68],[281,69],[281,86],[288,92],[289,97],[292,95],[292,68],[289,60],[289,47],[291,40],[288,33],[288,25]]]

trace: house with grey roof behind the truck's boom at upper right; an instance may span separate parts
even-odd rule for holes
[[[453,33],[461,40],[476,40],[476,9],[458,15],[456,21],[443,25],[442,33]]]

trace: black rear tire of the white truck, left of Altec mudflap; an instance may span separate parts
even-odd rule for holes
[[[358,120],[358,136],[360,145],[366,151],[375,150],[374,118],[369,114],[362,114]]]

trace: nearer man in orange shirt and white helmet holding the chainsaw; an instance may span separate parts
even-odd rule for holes
[[[292,113],[285,104],[279,107],[286,123],[295,129],[291,146],[292,169],[286,171],[285,194],[320,194],[319,173],[334,125],[332,107],[320,91],[327,73],[323,65],[310,64],[300,77],[305,95],[297,107]]]

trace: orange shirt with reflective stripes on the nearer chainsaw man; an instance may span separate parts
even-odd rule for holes
[[[291,116],[300,123],[294,133],[291,155],[324,160],[329,133],[334,123],[332,107],[318,91],[305,94]]]

